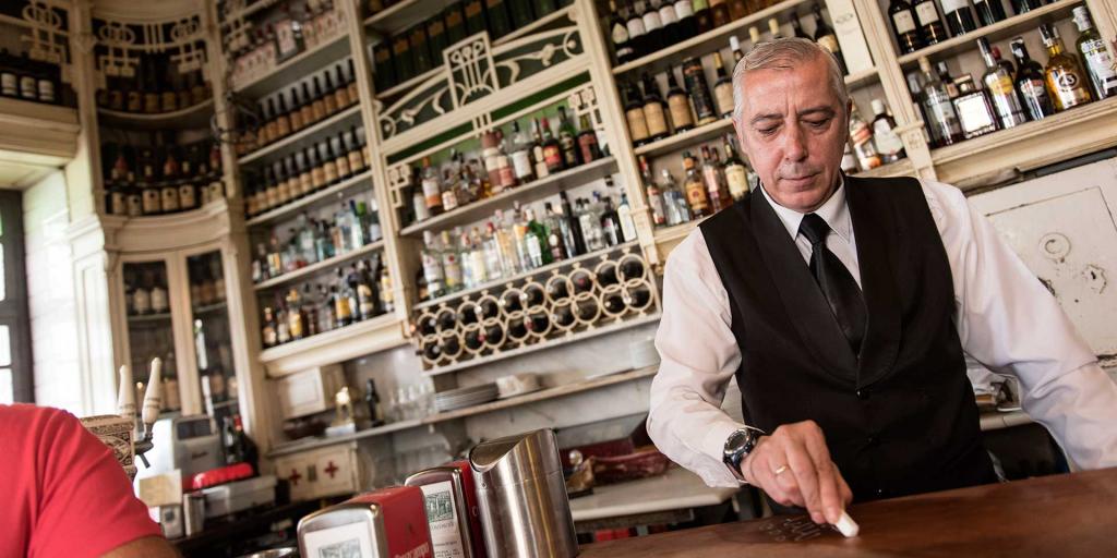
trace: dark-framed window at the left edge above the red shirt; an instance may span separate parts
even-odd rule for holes
[[[21,198],[0,191],[0,403],[35,401]]]

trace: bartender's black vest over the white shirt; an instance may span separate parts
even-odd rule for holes
[[[770,433],[817,422],[857,501],[995,481],[919,183],[844,187],[869,312],[860,355],[764,195],[700,225],[729,296],[745,421]]]

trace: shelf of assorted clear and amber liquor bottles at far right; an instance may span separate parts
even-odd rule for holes
[[[1117,96],[1117,74],[1105,51],[1105,42],[1092,28],[1086,7],[1073,10],[1075,25],[1066,20],[1039,23],[1038,32],[1018,36],[1009,45],[1002,44],[1008,47],[1003,50],[983,37],[976,41],[977,48],[948,61],[939,60],[935,69],[927,58],[919,59],[918,71],[907,76],[908,89],[923,113],[933,155],[937,148],[947,146],[957,148],[946,153],[970,153],[972,142],[985,136],[994,136],[983,144],[987,146],[997,145],[1004,138],[1027,138],[1027,131],[1016,136],[1004,132],[1028,123],[1035,123],[1029,129],[1037,129],[1057,126],[1058,122],[1075,122],[1078,121],[1076,116],[1052,118],[1065,112],[1081,110],[1098,98]],[[1068,48],[1070,40],[1065,42],[1062,37],[1075,37],[1076,28],[1079,30],[1077,44]],[[1039,50],[1037,39],[1042,39],[1047,50],[1046,64],[1030,55]],[[1016,64],[1001,58],[1000,52],[1005,50],[1012,52]],[[1083,66],[1082,58],[1090,64]],[[951,76],[952,67],[957,77]],[[957,68],[962,71],[957,73]],[[1076,151],[1073,146],[1083,145],[1079,138],[1068,141],[1069,144],[1052,142],[1049,151],[1070,153]],[[1038,155],[1049,160],[1043,154]],[[1018,160],[1015,156],[1010,158]]]

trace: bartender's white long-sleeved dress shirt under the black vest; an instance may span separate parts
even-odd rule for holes
[[[1054,434],[1078,466],[1117,465],[1117,385],[1098,366],[1097,356],[961,191],[939,182],[920,183],[949,260],[963,349],[993,372],[1020,379],[1024,411]],[[799,234],[803,214],[779,205],[766,192],[762,195],[806,264],[811,243]],[[827,248],[860,285],[844,187],[839,185],[815,213],[833,230]],[[731,329],[729,296],[701,229],[695,229],[667,260],[656,348],[662,363],[651,384],[651,439],[706,484],[738,485],[722,462],[722,452],[742,424],[720,406],[741,365],[741,349]]]

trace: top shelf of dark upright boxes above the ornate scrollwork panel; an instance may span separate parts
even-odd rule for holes
[[[407,0],[385,7],[365,20],[365,28],[374,35],[376,98],[392,98],[435,76],[441,70],[442,51],[466,37],[484,31],[493,46],[498,47],[569,21],[567,3],[569,0]]]

